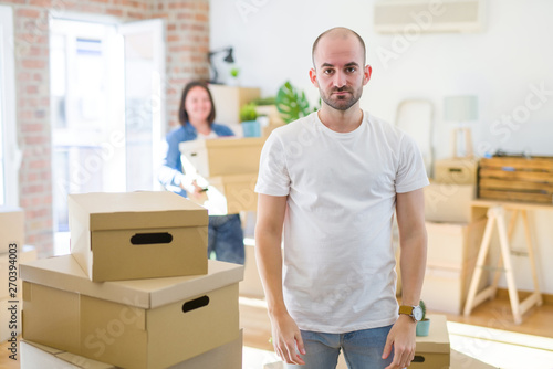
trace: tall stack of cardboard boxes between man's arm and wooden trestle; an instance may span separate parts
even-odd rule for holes
[[[430,310],[460,314],[467,297],[486,228],[486,219],[471,214],[477,167],[469,158],[437,160],[435,180],[425,188],[428,252],[421,298]]]

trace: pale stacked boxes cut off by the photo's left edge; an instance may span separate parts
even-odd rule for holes
[[[19,264],[36,259],[36,249],[23,243],[23,210],[0,207],[0,342],[21,333]]]

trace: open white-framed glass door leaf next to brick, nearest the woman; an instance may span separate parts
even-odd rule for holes
[[[125,44],[126,190],[160,190],[165,43],[160,19],[119,25]]]

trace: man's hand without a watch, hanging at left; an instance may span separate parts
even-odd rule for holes
[[[274,351],[286,363],[305,365],[298,355],[305,355],[302,335],[294,319],[285,313],[281,315],[270,315],[272,326],[272,342]]]

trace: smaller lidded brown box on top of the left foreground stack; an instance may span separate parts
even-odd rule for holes
[[[96,282],[207,273],[207,210],[173,192],[69,196],[71,253]]]

